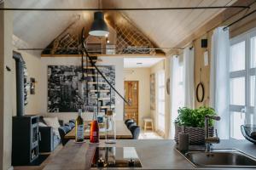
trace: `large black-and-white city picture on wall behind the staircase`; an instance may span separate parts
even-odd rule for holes
[[[114,66],[98,67],[114,86]],[[48,112],[77,112],[79,108],[103,112],[110,105],[113,109],[114,92],[100,74],[90,68],[84,78],[88,83],[81,81],[81,66],[48,65]]]

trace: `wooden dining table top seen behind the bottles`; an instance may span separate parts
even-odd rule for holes
[[[125,122],[116,121],[116,139],[132,139],[130,130],[126,127]],[[84,130],[84,138],[90,138],[90,131]],[[75,128],[65,135],[65,139],[75,139]],[[105,133],[100,132],[100,139],[105,139]]]

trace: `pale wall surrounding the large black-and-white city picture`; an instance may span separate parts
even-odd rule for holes
[[[115,88],[120,94],[124,95],[124,59],[122,57],[102,57],[100,65],[114,65],[115,66]],[[80,57],[42,57],[41,58],[41,78],[38,82],[40,87],[40,114],[44,116],[58,116],[59,119],[68,122],[68,120],[76,118],[76,113],[48,113],[47,112],[47,65],[81,65]],[[115,111],[116,120],[123,120],[123,101],[115,94]],[[91,115],[90,115],[91,116]],[[90,116],[84,116],[88,119]]]

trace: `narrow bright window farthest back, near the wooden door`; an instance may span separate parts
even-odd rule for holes
[[[165,72],[157,73],[157,127],[165,132]]]

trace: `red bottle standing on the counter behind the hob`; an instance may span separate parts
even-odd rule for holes
[[[93,113],[93,118],[90,123],[90,143],[99,143],[100,142],[100,131],[99,123],[97,120],[96,112]]]

